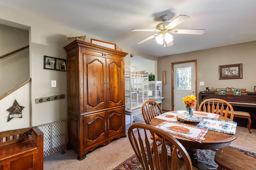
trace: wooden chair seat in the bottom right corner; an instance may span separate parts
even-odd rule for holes
[[[256,159],[230,147],[217,150],[214,161],[218,170],[255,170]]]

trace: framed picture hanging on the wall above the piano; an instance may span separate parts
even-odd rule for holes
[[[219,66],[219,80],[243,78],[242,63]]]

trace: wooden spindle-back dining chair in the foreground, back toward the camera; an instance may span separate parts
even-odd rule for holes
[[[138,135],[135,133],[138,131]],[[150,135],[153,134],[152,142]],[[154,136],[162,138],[158,143]],[[182,144],[169,133],[152,125],[135,123],[128,129],[128,137],[143,170],[197,170]],[[172,145],[166,145],[166,142]],[[153,150],[153,153],[151,152]],[[179,159],[179,155],[182,159]]]

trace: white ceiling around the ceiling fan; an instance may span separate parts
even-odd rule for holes
[[[256,40],[256,0],[0,0],[0,4],[156,57]],[[155,29],[164,14],[169,21],[190,16],[177,29],[206,32],[174,34],[171,47],[154,39],[137,45],[154,33],[130,30]]]

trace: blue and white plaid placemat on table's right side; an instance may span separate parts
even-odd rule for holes
[[[236,134],[237,123],[234,121],[214,119],[205,117],[203,121],[200,121],[196,127],[201,127],[204,129],[209,129],[212,131],[229,133],[232,135]]]

